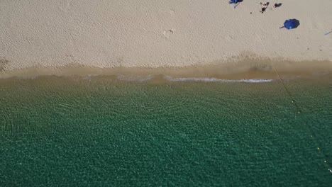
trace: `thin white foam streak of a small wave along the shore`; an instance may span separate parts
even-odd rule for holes
[[[168,81],[204,81],[204,82],[246,82],[246,83],[265,83],[273,81],[273,79],[239,79],[239,80],[231,80],[231,79],[216,79],[209,77],[186,77],[186,78],[172,78],[170,76],[165,75],[165,79]]]

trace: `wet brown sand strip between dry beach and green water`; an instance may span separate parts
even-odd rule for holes
[[[99,68],[71,64],[66,67],[33,67],[0,72],[0,79],[58,76],[58,77],[91,77],[112,76],[115,79],[307,79],[332,77],[332,62],[329,61],[272,61],[246,59],[239,62],[223,64],[194,65],[189,67],[118,67]],[[150,78],[149,78],[150,77]],[[168,77],[168,78],[167,78]]]

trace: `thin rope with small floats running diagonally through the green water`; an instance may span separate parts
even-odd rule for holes
[[[272,66],[272,64],[271,64],[271,66]],[[277,72],[277,69],[276,69],[274,66],[272,66],[272,67],[273,67],[273,69],[275,69],[275,72],[276,72],[276,74],[278,75],[279,80],[280,80],[280,82],[282,83],[282,86],[284,87],[284,90],[287,92],[289,98],[292,99],[292,103],[294,104],[295,108],[297,108],[297,113],[300,114],[300,113],[301,113],[300,107],[299,107],[299,106],[297,105],[297,103],[294,101],[294,98],[293,98],[292,94],[291,94],[290,91],[287,89],[286,85],[284,84],[284,81],[282,81],[279,72]],[[311,140],[314,142],[314,144],[315,144],[316,147],[317,147],[318,152],[321,154],[321,156],[322,156],[323,159],[324,159],[323,163],[327,166],[328,171],[330,171],[331,174],[332,174],[332,167],[331,167],[330,164],[326,161],[327,156],[321,151],[321,148],[319,147],[319,143],[318,143],[318,141],[316,140],[316,137],[314,136],[314,133],[313,133],[313,131],[311,130],[311,128],[310,128],[310,126],[308,125],[308,123],[304,123],[304,124],[305,124],[305,126],[306,126],[306,131],[308,132],[308,134],[309,134],[310,137],[311,137]]]

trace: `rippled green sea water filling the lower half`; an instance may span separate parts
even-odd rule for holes
[[[331,186],[332,83],[285,85],[1,80],[0,186]]]

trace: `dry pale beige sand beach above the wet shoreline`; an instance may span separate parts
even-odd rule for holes
[[[228,0],[1,0],[0,72],[174,68],[247,58],[280,67],[332,64],[332,33],[324,35],[332,31],[331,0],[271,0],[265,13],[260,2],[267,1],[233,8]],[[289,18],[299,27],[280,28]]]

